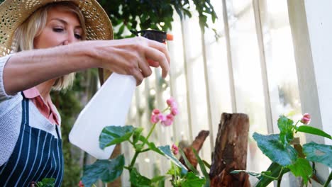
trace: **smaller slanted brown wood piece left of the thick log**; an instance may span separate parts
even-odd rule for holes
[[[196,152],[198,153],[199,150],[201,150],[201,147],[203,146],[204,141],[207,136],[209,136],[209,130],[201,130],[201,132],[199,132],[199,135],[197,135],[195,140],[192,142],[192,145],[190,145],[189,147],[184,147],[182,149],[182,151],[184,152],[184,155],[186,155],[190,164],[192,164],[192,166],[194,166],[194,168],[197,168],[198,162],[197,162],[197,158],[195,157],[194,152],[192,151],[192,148],[195,149]],[[184,162],[183,157],[180,157],[179,162],[184,164],[184,166],[187,166],[186,163]],[[187,166],[187,168],[188,168],[188,166]]]

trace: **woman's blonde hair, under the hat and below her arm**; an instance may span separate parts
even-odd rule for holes
[[[21,26],[16,29],[16,33],[13,38],[13,52],[20,52],[23,50],[33,50],[33,40],[40,35],[43,28],[46,26],[48,20],[48,11],[50,8],[61,7],[63,11],[69,11],[75,13],[81,24],[83,33],[82,40],[85,40],[87,35],[87,28],[85,26],[84,16],[81,10],[70,1],[62,1],[52,4],[47,4],[41,8],[38,8],[31,16],[24,21]],[[54,90],[67,89],[72,86],[74,82],[75,74],[67,74],[56,79],[55,84],[52,86]]]

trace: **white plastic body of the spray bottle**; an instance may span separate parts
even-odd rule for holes
[[[70,142],[97,159],[109,159],[114,146],[101,149],[99,135],[106,126],[125,124],[135,86],[132,76],[111,74],[79,113],[70,131]]]

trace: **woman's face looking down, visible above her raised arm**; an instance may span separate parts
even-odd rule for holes
[[[62,11],[61,7],[50,8],[48,20],[40,35],[33,40],[35,49],[68,45],[81,40],[83,30],[75,13]]]

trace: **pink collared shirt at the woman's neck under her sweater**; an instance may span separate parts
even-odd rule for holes
[[[26,98],[29,98],[31,101],[33,101],[35,106],[38,108],[38,111],[40,111],[40,113],[44,115],[45,118],[50,121],[50,123],[59,125],[57,112],[50,98],[45,102],[42,96],[40,96],[38,89],[35,87],[23,91],[23,94],[26,96]]]

